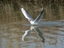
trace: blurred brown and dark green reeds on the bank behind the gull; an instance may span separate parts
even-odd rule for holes
[[[25,8],[33,18],[44,7],[44,19],[64,19],[64,0],[0,0],[0,24],[22,21],[20,8]],[[36,10],[36,11],[35,11]]]

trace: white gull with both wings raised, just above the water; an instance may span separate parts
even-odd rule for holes
[[[25,18],[28,19],[28,21],[31,23],[31,25],[38,25],[38,22],[42,19],[43,17],[43,12],[44,12],[44,9],[42,8],[42,11],[41,13],[37,16],[37,18],[34,20],[30,15],[29,13],[24,9],[24,8],[21,8],[21,11],[23,13],[23,15],[25,16]]]

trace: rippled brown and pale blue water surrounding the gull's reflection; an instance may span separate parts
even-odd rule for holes
[[[45,38],[42,43],[37,32],[32,31],[22,41],[22,35],[26,30],[20,24],[10,24],[0,27],[0,48],[64,48],[64,27],[41,27]],[[21,27],[22,26],[22,27]],[[27,28],[29,29],[29,28]]]

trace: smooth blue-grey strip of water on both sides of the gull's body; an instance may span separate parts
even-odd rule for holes
[[[31,26],[31,24],[23,24],[25,26]],[[37,26],[64,26],[64,22],[61,21],[43,21],[38,22]]]

